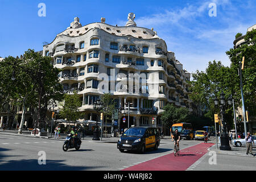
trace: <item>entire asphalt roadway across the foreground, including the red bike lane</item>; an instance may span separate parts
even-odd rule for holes
[[[3,170],[93,170],[116,171],[129,168],[146,170],[148,164],[161,166],[161,161],[170,159],[170,166],[180,165],[187,170],[256,170],[256,158],[246,156],[216,155],[217,164],[209,164],[209,151],[201,148],[202,141],[181,140],[179,159],[173,158],[173,143],[161,139],[157,151],[148,150],[145,154],[136,152],[121,153],[116,143],[101,143],[91,139],[82,140],[79,151],[62,150],[64,141],[31,138],[0,134],[0,171]],[[189,148],[192,148],[191,150]],[[201,151],[203,151],[201,153]],[[207,151],[205,151],[207,150]],[[40,165],[39,151],[46,154],[46,165]],[[196,157],[196,155],[199,155]],[[179,163],[177,161],[179,160]],[[166,163],[166,161],[165,161]],[[184,163],[184,164],[183,164]],[[143,168],[144,166],[144,168]],[[171,168],[166,168],[168,170]]]

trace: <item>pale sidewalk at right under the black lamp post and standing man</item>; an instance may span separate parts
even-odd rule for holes
[[[216,146],[216,142],[214,142],[214,146],[210,147],[208,150],[209,151],[215,151],[217,154],[222,154],[222,155],[235,155],[235,156],[247,156],[254,158],[256,156],[256,148],[253,148],[253,154],[248,154],[246,155],[246,147],[234,147],[232,144],[230,144],[231,151],[226,151],[226,150],[220,150],[220,143],[218,143],[218,149]]]

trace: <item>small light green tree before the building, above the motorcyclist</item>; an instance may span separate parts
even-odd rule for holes
[[[68,122],[76,121],[76,119],[81,117],[79,110],[81,105],[82,102],[77,92],[74,92],[74,94],[65,94],[64,105],[60,109],[60,117],[66,119]]]

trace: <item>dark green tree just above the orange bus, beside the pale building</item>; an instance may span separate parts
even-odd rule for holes
[[[170,129],[174,123],[187,122],[189,116],[188,113],[187,108],[167,104],[164,106],[164,111],[161,114],[161,120],[163,125]]]

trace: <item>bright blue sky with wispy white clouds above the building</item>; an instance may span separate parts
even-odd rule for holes
[[[38,16],[39,3],[46,4],[46,17]],[[210,3],[216,4],[216,17],[209,16]],[[75,16],[82,26],[100,22],[101,17],[124,26],[131,12],[138,27],[154,27],[189,72],[204,71],[213,60],[229,66],[225,51],[233,47],[235,35],[246,34],[256,23],[255,0],[0,0],[0,56],[42,50],[43,42],[51,43]]]

